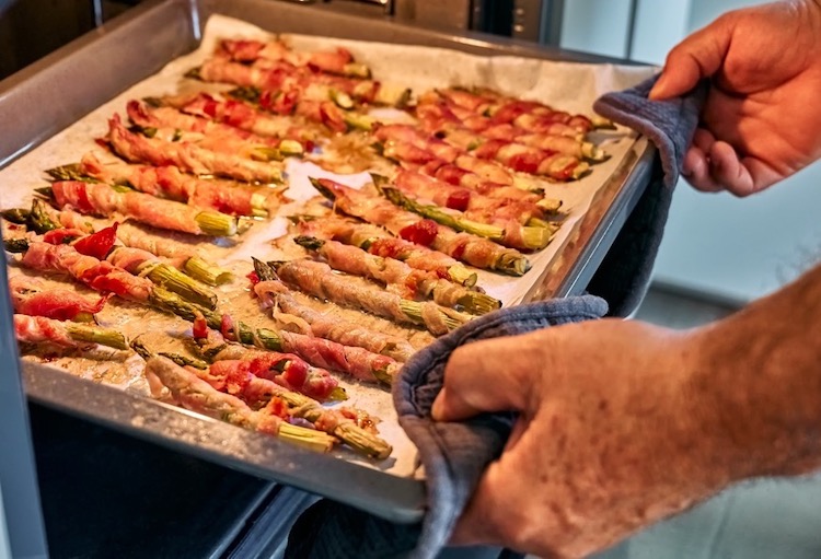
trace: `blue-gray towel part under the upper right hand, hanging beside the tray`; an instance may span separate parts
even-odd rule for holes
[[[683,97],[648,101],[647,95],[657,79],[629,90],[608,93],[593,105],[600,115],[646,136],[659,152],[651,184],[587,288],[589,293],[608,301],[613,316],[628,316],[647,292],[681,162],[707,94],[707,82],[702,82]]]

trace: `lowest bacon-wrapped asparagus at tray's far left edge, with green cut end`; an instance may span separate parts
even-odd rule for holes
[[[61,322],[45,316],[14,315],[14,334],[20,342],[51,343],[62,348],[89,349],[95,343],[128,349],[122,333],[99,326]]]

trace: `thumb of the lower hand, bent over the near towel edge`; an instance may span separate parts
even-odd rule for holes
[[[528,336],[495,338],[456,348],[433,401],[437,421],[459,421],[485,411],[522,410],[540,360]]]

